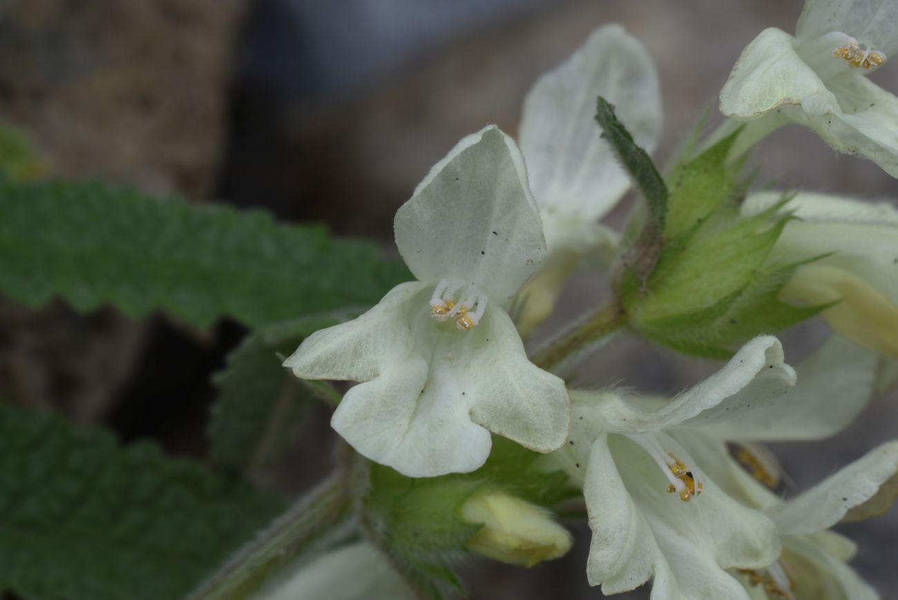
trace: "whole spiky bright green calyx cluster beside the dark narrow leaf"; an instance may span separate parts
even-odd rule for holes
[[[616,278],[629,325],[682,352],[726,358],[761,333],[803,321],[823,307],[779,300],[801,263],[770,264],[788,198],[753,216],[740,216],[747,181],[726,156],[739,131],[674,166],[663,235],[641,240]],[[640,256],[641,254],[641,256]],[[645,255],[649,255],[646,257]]]

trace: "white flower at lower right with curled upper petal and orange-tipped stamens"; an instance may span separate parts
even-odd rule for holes
[[[702,466],[717,459],[688,443],[779,401],[794,382],[779,341],[764,336],[669,402],[572,392],[570,445],[551,457],[583,485],[590,584],[616,594],[654,577],[653,598],[746,597],[726,569],[776,560],[776,527],[721,490]]]

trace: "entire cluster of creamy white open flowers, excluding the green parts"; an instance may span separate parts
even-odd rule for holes
[[[721,110],[763,131],[803,124],[898,176],[898,101],[867,79],[896,49],[894,0],[808,0],[796,36],[770,29],[745,49]],[[795,218],[770,260],[807,261],[783,296],[825,304],[841,334],[797,369],[761,336],[670,400],[568,392],[528,359],[520,332],[550,312],[571,269],[617,243],[598,221],[629,179],[594,124],[599,95],[640,146],[656,146],[655,67],[605,26],[535,84],[520,147],[494,126],[464,137],[399,209],[396,244],[418,280],[313,334],[285,366],[360,382],[333,428],[411,477],[478,469],[491,434],[547,453],[546,468],[583,490],[587,577],[605,594],[651,580],[654,600],[877,597],[846,565],[853,544],[828,530],[889,506],[898,442],[787,500],[760,443],[832,436],[883,384],[882,363],[898,357],[898,211],[813,193],[783,208]],[[751,194],[742,213],[778,199]]]

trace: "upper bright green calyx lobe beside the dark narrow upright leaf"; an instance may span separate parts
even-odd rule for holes
[[[744,161],[727,163],[726,156],[742,128],[720,139],[707,150],[677,164],[667,176],[665,237],[673,239],[713,215],[725,203],[732,204],[744,186],[736,183]]]

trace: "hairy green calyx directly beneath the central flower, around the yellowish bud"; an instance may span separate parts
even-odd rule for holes
[[[378,543],[423,596],[443,598],[445,587],[461,592],[452,567],[480,529],[459,516],[466,499],[480,490],[502,490],[555,507],[577,494],[563,472],[535,468],[541,455],[494,436],[489,460],[475,472],[414,479],[372,463],[365,514]]]

